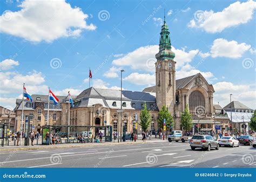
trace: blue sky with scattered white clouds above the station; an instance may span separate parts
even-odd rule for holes
[[[255,1],[0,1],[0,106],[30,94],[155,85],[164,21],[176,79],[203,74],[214,104],[256,109]]]

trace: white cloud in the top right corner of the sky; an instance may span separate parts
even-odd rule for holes
[[[194,13],[188,27],[197,27],[210,33],[221,32],[228,27],[247,23],[253,18],[254,9],[256,2],[247,1],[235,2],[219,12],[199,10]]]

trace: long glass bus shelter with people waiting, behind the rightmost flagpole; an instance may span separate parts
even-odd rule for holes
[[[65,138],[65,143],[70,143],[70,139],[76,139],[79,134],[90,139],[97,137],[99,132],[103,133],[103,141],[112,142],[112,126],[91,126],[91,125],[44,125],[42,130],[42,144],[46,143],[46,134],[49,136],[58,135],[59,138]],[[90,141],[93,142],[92,139]],[[49,141],[49,143],[51,143]]]

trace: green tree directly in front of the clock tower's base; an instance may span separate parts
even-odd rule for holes
[[[157,122],[160,128],[164,128],[164,119],[165,119],[166,126],[172,125],[172,122],[173,122],[172,115],[165,105],[161,108],[161,110],[159,110],[159,113],[158,113]]]

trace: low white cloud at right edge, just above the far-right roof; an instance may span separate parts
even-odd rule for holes
[[[215,83],[213,88],[215,90],[214,102],[220,102],[223,107],[230,103],[230,94],[232,94],[232,101],[239,101],[252,109],[256,109],[256,91],[253,85],[235,85],[232,82],[223,81]]]

